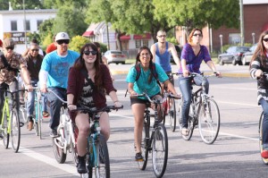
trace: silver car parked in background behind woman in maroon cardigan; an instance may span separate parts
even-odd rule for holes
[[[127,56],[119,50],[108,50],[105,52],[105,57],[108,64],[125,64],[127,59]]]

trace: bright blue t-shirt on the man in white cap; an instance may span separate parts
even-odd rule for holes
[[[47,54],[41,65],[41,70],[48,72],[46,86],[67,89],[69,69],[79,56],[79,53],[71,50],[64,57],[58,55],[56,50]]]

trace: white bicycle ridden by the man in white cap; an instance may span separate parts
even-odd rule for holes
[[[55,97],[58,97],[63,102],[60,124],[57,127],[58,137],[52,139],[54,157],[59,164],[63,164],[66,161],[67,151],[69,150],[74,164],[77,165],[78,158],[75,138],[77,137],[78,131],[68,114],[67,101],[64,101],[52,89],[47,89],[47,91],[53,93]]]

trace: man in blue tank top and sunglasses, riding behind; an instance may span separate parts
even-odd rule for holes
[[[158,42],[151,47],[153,62],[162,66],[163,71],[170,76],[170,81],[172,81],[172,84],[174,85],[173,76],[171,75],[171,55],[174,59],[174,62],[177,64],[178,69],[180,69],[180,58],[177,55],[174,45],[166,41],[166,32],[164,30],[159,30],[156,38]]]

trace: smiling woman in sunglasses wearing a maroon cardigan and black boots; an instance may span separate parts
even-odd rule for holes
[[[80,57],[69,72],[67,103],[70,111],[76,109],[77,106],[99,109],[105,107],[105,92],[111,97],[114,106],[121,106],[110,72],[105,64],[100,64],[99,55],[100,53],[97,52],[97,47],[93,43],[81,47]],[[85,163],[87,138],[90,131],[89,115],[81,112],[70,112],[70,114],[79,130],[77,139],[78,173],[85,174],[87,173]],[[110,137],[109,115],[106,112],[101,113],[99,121],[101,132],[105,136],[105,140],[108,140]]]

